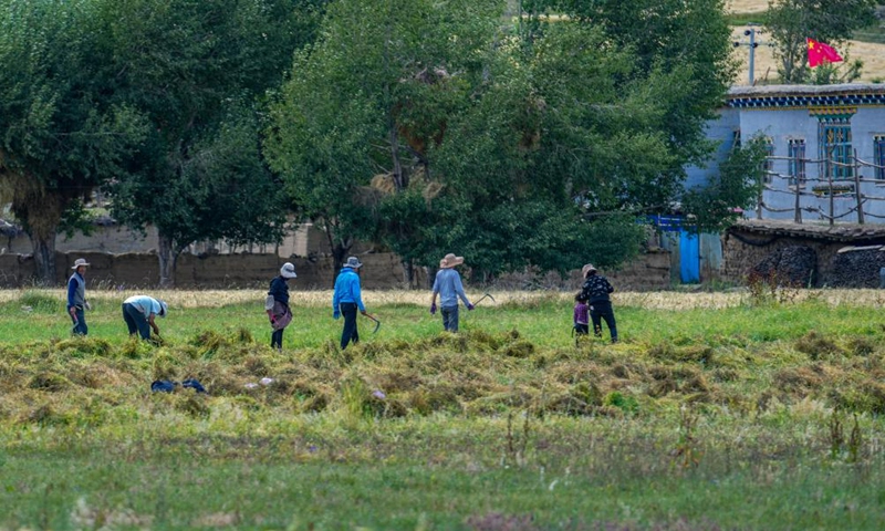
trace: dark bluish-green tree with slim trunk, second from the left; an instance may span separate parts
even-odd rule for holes
[[[113,214],[159,235],[160,284],[195,240],[274,241],[281,185],[261,159],[260,98],[313,38],[320,0],[108,2],[118,97],[152,124],[111,188]],[[259,105],[259,107],[257,107]]]

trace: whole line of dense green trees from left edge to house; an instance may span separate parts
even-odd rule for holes
[[[43,279],[97,187],[157,227],[166,283],[190,242],[274,241],[287,211],[339,261],[369,239],[482,277],[620,263],[712,148],[722,1],[522,3],[0,0],[0,191]]]

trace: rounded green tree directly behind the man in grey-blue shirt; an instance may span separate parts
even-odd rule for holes
[[[660,110],[623,83],[635,58],[597,28],[561,23],[488,63],[477,104],[436,153],[444,192],[430,248],[457,244],[480,278],[534,266],[564,272],[638,250],[642,190],[670,166]],[[421,263],[433,263],[431,256]]]

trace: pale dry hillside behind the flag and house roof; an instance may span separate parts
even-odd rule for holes
[[[745,13],[760,13],[759,20],[761,21],[761,13],[768,9],[768,0],[729,0],[727,2],[728,9],[735,14]],[[749,27],[737,25],[733,29],[735,41],[747,42],[748,38],[743,35],[745,30]],[[761,34],[759,33],[761,30]],[[767,43],[771,42],[767,35],[764,28],[757,29],[757,41],[760,43],[756,49],[756,67],[754,76],[757,83],[764,83],[766,80],[772,82],[777,79],[778,67],[772,56],[772,49]],[[845,50],[839,50],[844,56]],[[860,59],[864,62],[862,82],[881,82],[885,81],[885,43],[875,43],[866,41],[850,41],[850,49],[847,50],[852,59]],[[749,70],[749,50],[747,46],[738,46],[735,49],[735,56],[741,61],[741,71],[736,80],[738,85],[747,85],[748,70]]]

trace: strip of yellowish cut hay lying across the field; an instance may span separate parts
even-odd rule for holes
[[[346,351],[280,354],[246,330],[195,334],[184,344],[113,346],[76,337],[0,347],[0,423],[102,425],[179,415],[232,421],[257,413],[353,418],[654,415],[694,403],[752,413],[772,399],[885,412],[885,348],[870,339],[823,339],[750,352],[723,343],[545,348],[518,331],[442,333]],[[208,394],[154,379],[196,378]]]

